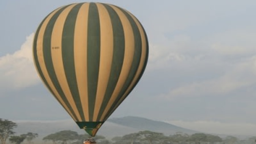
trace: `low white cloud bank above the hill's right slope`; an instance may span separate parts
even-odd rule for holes
[[[170,124],[206,133],[226,135],[255,135],[256,124],[251,123],[224,123],[216,121],[168,121]]]

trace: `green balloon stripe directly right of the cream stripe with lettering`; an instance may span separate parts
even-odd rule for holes
[[[75,57],[74,57],[74,34],[75,34],[75,23],[77,19],[77,13],[82,3],[75,5],[67,15],[66,21],[63,27],[62,34],[62,60],[67,78],[69,89],[77,106],[78,112],[85,121],[82,103],[80,100],[79,90],[77,87],[77,77],[75,72]]]

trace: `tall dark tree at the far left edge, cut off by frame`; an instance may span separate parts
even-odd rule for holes
[[[0,140],[2,144],[5,144],[10,135],[13,135],[13,129],[17,127],[15,122],[10,120],[3,120],[0,118]]]

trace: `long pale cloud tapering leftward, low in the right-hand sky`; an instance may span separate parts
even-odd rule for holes
[[[226,94],[242,87],[248,87],[256,83],[254,77],[256,57],[253,56],[243,62],[226,64],[225,73],[218,78],[186,83],[171,89],[165,95],[167,98],[176,96],[204,96],[206,94]]]

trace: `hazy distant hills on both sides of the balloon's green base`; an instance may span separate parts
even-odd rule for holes
[[[81,130],[73,120],[16,121],[16,123],[18,124],[18,127],[15,129],[16,134],[23,134],[27,132],[38,133],[40,136],[38,139],[42,139],[46,135],[62,130],[72,130],[80,134],[85,133],[84,130]],[[165,135],[171,135],[175,132],[184,132],[188,134],[196,133],[196,131],[181,128],[165,122],[127,116],[107,120],[97,134],[111,139],[115,136],[123,136],[143,130],[161,132]]]

